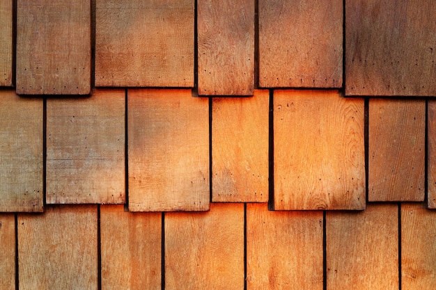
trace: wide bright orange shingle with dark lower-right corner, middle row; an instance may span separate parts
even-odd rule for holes
[[[274,209],[364,209],[364,99],[274,91]]]

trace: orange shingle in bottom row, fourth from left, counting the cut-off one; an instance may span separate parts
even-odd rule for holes
[[[244,204],[165,214],[165,289],[244,289]]]

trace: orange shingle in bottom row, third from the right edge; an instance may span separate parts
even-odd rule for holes
[[[322,211],[247,204],[247,289],[322,290]]]

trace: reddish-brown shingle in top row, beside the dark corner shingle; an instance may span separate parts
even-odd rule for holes
[[[261,88],[341,88],[343,3],[259,0]]]

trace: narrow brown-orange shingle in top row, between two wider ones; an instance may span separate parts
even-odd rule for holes
[[[197,2],[199,95],[253,95],[254,4]]]

